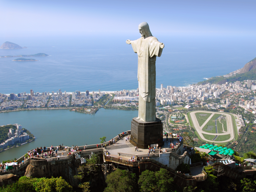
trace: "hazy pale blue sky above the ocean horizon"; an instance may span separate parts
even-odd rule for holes
[[[0,35],[155,34],[255,36],[256,1],[9,1],[0,0]]]

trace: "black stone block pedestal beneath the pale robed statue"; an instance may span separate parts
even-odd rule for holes
[[[162,121],[157,118],[156,121],[143,122],[136,119],[132,119],[131,125],[131,143],[142,149],[147,149],[148,145],[158,144],[163,145],[163,124]]]

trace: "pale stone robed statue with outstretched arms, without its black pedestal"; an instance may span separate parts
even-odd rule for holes
[[[131,41],[138,54],[139,116],[138,120],[156,121],[155,117],[155,60],[160,57],[164,44],[153,37],[146,22],[139,25],[141,38]]]

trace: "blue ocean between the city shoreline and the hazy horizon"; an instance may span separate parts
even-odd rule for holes
[[[225,75],[256,57],[252,37],[173,37],[155,35],[165,44],[157,58],[156,83],[188,86]],[[0,49],[0,56],[46,53],[39,61],[0,58],[0,93],[54,91],[116,91],[137,89],[138,56],[126,39],[139,34],[80,37],[0,37],[29,49]]]

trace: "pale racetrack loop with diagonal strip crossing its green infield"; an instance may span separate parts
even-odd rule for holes
[[[203,112],[203,113],[212,113],[212,114],[210,115],[210,117],[207,118],[207,120],[203,123],[203,125],[202,125],[201,127],[199,126],[199,123],[198,123],[198,121],[197,121],[197,119],[196,119],[196,115],[195,115],[196,113],[199,113],[199,112],[201,112],[201,113],[202,113],[202,112]],[[212,116],[214,116],[215,113],[216,113],[216,114],[222,114],[222,115],[225,115],[225,116],[226,116],[226,120],[227,120],[227,132],[225,132],[225,133],[208,133],[208,132],[205,132],[205,131],[202,130],[203,127],[204,127],[204,126],[208,123],[208,121],[212,118]],[[204,138],[203,133],[204,133],[204,134],[207,134],[207,135],[227,135],[227,134],[230,134],[230,139],[225,140],[225,141],[218,141],[217,143],[225,143],[225,142],[229,142],[229,141],[231,141],[231,140],[234,139],[234,129],[233,129],[233,124],[232,124],[232,117],[231,117],[230,114],[221,113],[221,112],[193,111],[193,112],[189,113],[189,115],[191,116],[191,120],[192,120],[192,122],[193,122],[193,124],[194,124],[194,127],[195,127],[196,131],[198,132],[199,136],[200,136],[203,140],[205,140],[205,141],[207,141],[207,142],[215,142],[215,141],[213,141],[213,140],[208,140],[208,139]]]

